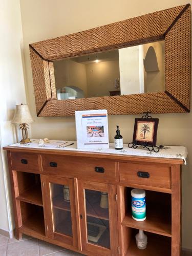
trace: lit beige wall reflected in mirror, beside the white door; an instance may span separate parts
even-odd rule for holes
[[[119,78],[119,61],[102,61],[86,65],[88,97],[109,96]]]

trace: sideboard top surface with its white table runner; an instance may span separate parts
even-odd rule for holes
[[[114,143],[110,143],[109,148],[96,148],[96,149],[77,149],[76,141],[68,141],[66,145],[74,143],[68,147],[57,146],[66,142],[61,140],[50,140],[50,143],[45,143],[43,146],[39,146],[39,140],[32,139],[32,143],[20,144],[15,143],[4,147],[7,151],[17,151],[26,153],[37,153],[37,154],[57,154],[57,155],[68,155],[68,156],[81,156],[81,157],[93,157],[93,158],[105,158],[114,159],[120,161],[131,161],[137,159],[138,161],[148,162],[159,162],[169,164],[186,164],[187,148],[184,146],[164,146],[158,153],[150,152],[143,146],[138,148],[129,148],[127,144],[123,144],[122,150],[115,150]]]

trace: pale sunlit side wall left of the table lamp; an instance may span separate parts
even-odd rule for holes
[[[22,59],[23,34],[19,0],[1,1],[0,24],[0,229],[9,232],[13,229],[12,202],[7,156],[2,147],[20,139],[20,132],[18,129],[15,130],[11,120],[15,105],[26,103],[24,63]]]

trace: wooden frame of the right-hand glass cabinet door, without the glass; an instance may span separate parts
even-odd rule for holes
[[[108,193],[109,199],[109,224],[110,224],[110,249],[88,242],[87,238],[87,215],[85,189],[103,191]],[[118,221],[117,221],[117,201],[116,186],[112,184],[96,183],[78,180],[78,195],[80,208],[80,226],[82,250],[94,252],[96,255],[118,255]]]

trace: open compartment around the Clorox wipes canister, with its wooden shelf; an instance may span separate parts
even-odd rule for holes
[[[146,220],[136,221],[132,218],[131,189],[127,187],[125,190],[125,204],[127,207],[121,225],[172,237],[171,195],[145,190]]]

